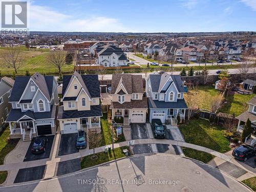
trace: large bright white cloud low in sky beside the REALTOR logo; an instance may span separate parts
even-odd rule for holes
[[[75,18],[46,6],[30,5],[30,31],[134,32],[118,19],[105,16]]]

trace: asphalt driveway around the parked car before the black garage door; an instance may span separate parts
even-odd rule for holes
[[[46,143],[46,151],[42,154],[36,154],[36,155],[31,153],[31,147],[35,140],[35,138],[33,138],[23,161],[34,161],[34,160],[49,158],[52,151],[52,143],[54,140],[54,135],[49,135],[47,136],[47,138],[48,138],[48,141]]]

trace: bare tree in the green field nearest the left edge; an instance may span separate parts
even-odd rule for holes
[[[1,57],[4,59],[5,65],[13,68],[15,73],[23,65],[24,55],[20,47],[7,48],[2,51]]]

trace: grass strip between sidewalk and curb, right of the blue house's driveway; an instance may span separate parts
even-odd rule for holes
[[[205,152],[201,152],[198,150],[194,150],[194,148],[182,147],[182,151],[186,157],[197,159],[204,163],[208,163],[211,159],[213,159],[215,157],[214,155],[211,155],[211,154],[208,154]]]

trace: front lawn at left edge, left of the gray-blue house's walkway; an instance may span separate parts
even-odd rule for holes
[[[10,153],[18,143],[19,139],[9,139],[9,126],[0,132],[0,165],[4,164],[5,156]]]

